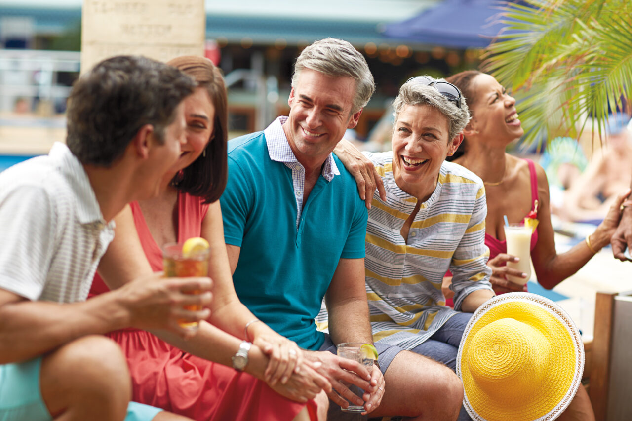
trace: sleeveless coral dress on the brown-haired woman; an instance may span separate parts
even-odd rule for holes
[[[137,202],[130,204],[134,223],[154,271],[162,271],[162,252],[152,238]],[[178,193],[178,241],[200,236],[208,205]],[[108,291],[97,274],[90,296]],[[153,334],[128,328],[107,334],[125,353],[133,401],[163,408],[194,420],[291,420],[305,403],[284,398],[265,382],[219,363],[174,348]],[[313,420],[316,406],[308,404]]]

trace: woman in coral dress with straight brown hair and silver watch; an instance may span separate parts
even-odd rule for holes
[[[202,322],[191,338],[138,329],[108,334],[128,358],[133,400],[195,420],[315,420],[313,398],[319,396],[324,403],[319,413],[326,413],[320,391],[331,386],[296,343],[259,322],[234,292],[217,200],[227,176],[221,72],[197,56],[169,64],[199,84],[184,102],[186,142],[181,157],[158,186],[157,197],[133,202],[116,217],[115,240],[90,292],[96,295],[139,273],[162,271],[161,245],[202,237],[210,244],[214,296],[209,322]],[[231,368],[242,343],[252,343],[243,371]]]

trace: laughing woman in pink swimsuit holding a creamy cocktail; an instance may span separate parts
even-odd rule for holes
[[[490,252],[488,265],[493,271],[490,281],[494,290],[504,293],[523,289],[506,279],[507,274],[522,278],[526,278],[526,274],[506,267],[507,262],[518,258],[506,253],[503,216],[507,216],[509,223],[520,223],[530,212],[540,221],[531,241],[535,275],[544,288],[553,288],[610,243],[619,221],[619,206],[628,192],[621,192],[625,194],[617,198],[607,217],[585,241],[558,254],[550,221],[549,183],[544,169],[530,160],[505,152],[507,145],[524,133],[515,108],[516,100],[493,76],[479,71],[463,71],[447,80],[461,89],[472,114],[463,131],[463,144],[454,154],[458,156],[454,162],[473,171],[485,183],[485,244]],[[461,150],[463,153],[459,156]]]

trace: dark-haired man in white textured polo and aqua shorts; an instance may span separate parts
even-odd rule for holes
[[[133,326],[186,336],[178,319],[209,310],[183,305],[207,305],[210,279],[152,276],[85,298],[112,218],[153,197],[177,161],[194,88],[157,61],[102,61],[73,88],[68,146],[0,174],[0,420],[185,419],[129,403],[125,357],[96,334]]]

